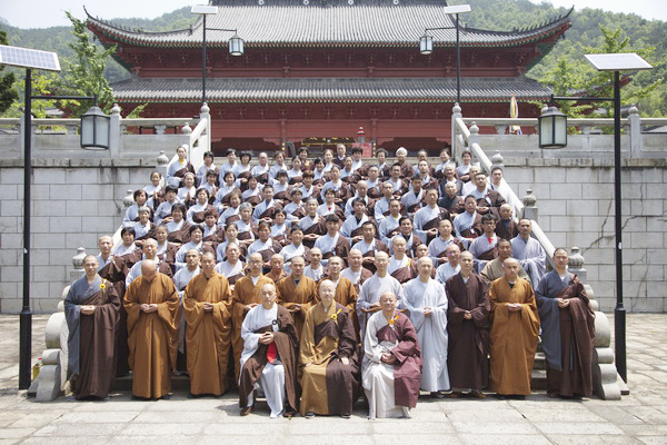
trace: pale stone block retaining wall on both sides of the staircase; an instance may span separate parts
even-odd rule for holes
[[[601,310],[615,306],[614,165],[610,159],[506,159],[519,197],[531,188],[538,221],[555,246],[578,246]],[[56,309],[78,247],[119,226],[128,189],[143,187],[151,159],[34,160],[31,297],[36,313]],[[665,160],[624,160],[625,306],[667,309],[667,172]],[[22,296],[23,170],[0,160],[0,310],[18,313]]]

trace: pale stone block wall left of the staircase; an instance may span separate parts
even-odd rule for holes
[[[98,254],[100,235],[112,235],[122,219],[128,189],[148,184],[151,160],[59,159],[33,161],[31,218],[32,309],[50,313],[69,284],[78,247]],[[0,161],[0,312],[22,305],[23,168]]]

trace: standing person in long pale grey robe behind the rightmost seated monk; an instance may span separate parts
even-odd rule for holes
[[[445,287],[431,278],[434,263],[429,257],[419,258],[417,269],[419,276],[405,286],[405,306],[421,347],[424,370],[419,387],[442,398],[441,392],[449,389],[447,295]]]

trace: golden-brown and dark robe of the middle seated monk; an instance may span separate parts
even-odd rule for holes
[[[350,415],[359,388],[357,335],[348,310],[320,301],[306,315],[301,334],[301,414]],[[349,364],[340,362],[348,357]]]

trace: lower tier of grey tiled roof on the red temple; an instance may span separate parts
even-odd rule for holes
[[[197,102],[201,79],[130,79],[112,85],[121,101]],[[529,79],[461,79],[465,101],[544,100],[551,91]],[[209,102],[396,103],[456,98],[456,79],[208,79]]]

